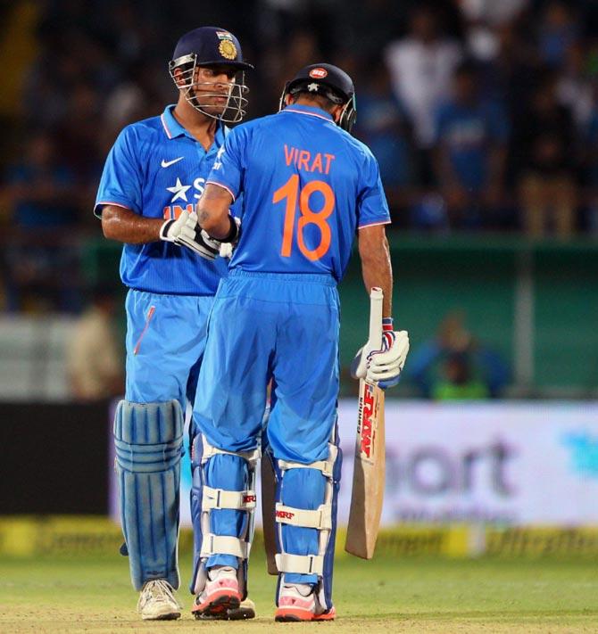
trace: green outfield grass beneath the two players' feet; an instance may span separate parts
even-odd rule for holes
[[[178,622],[142,622],[126,559],[0,559],[0,632],[374,632],[598,631],[598,561],[392,559],[339,557],[336,622],[272,620],[275,580],[260,553],[252,555],[253,622],[195,622],[191,597]],[[189,556],[181,556],[187,584]]]

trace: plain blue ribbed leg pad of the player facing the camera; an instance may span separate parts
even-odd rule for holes
[[[135,589],[153,579],[179,588],[180,459],[183,413],[177,400],[121,400],[114,419],[120,519]]]

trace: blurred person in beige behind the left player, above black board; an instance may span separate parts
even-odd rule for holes
[[[89,307],[74,325],[67,364],[74,399],[110,399],[124,393],[121,343],[114,329],[114,289],[97,288]]]

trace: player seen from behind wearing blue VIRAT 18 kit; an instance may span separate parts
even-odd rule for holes
[[[390,218],[378,163],[350,135],[354,119],[351,78],[326,63],[303,68],[277,114],[228,135],[198,203],[199,226],[236,248],[216,293],[195,399],[203,483],[195,613],[217,614],[245,596],[253,472],[271,381],[262,459],[271,460],[277,482],[275,618],[335,617],[336,284],[355,235],[365,286],[383,289],[385,317],[379,349],[361,353],[356,373],[394,385],[409,350],[407,333],[392,325]],[[228,210],[241,194],[239,229]]]

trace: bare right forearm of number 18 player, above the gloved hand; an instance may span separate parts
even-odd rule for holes
[[[393,269],[384,226],[365,227],[359,233],[361,272],[367,292],[378,286],[384,292],[383,317],[393,314]]]

